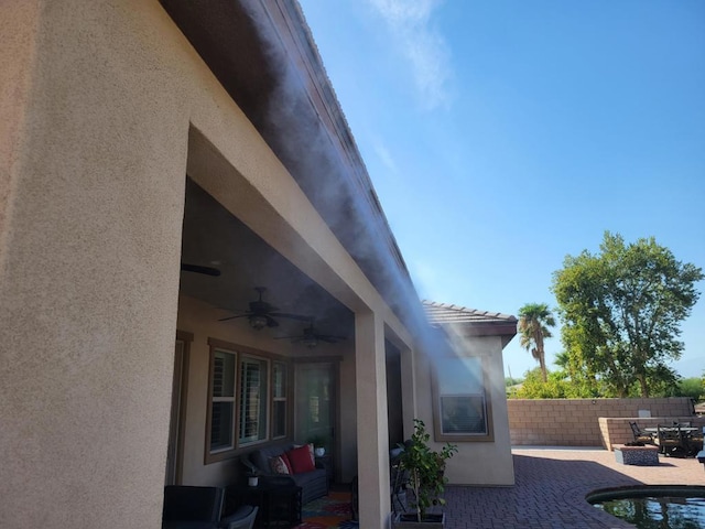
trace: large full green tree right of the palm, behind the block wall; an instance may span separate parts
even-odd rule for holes
[[[626,245],[606,231],[600,253],[567,256],[553,276],[567,354],[618,397],[634,385],[641,397],[650,386],[674,387],[677,376],[666,363],[682,355],[680,324],[704,277],[653,237]]]

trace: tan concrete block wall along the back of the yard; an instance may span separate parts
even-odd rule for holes
[[[509,399],[507,403],[513,446],[603,446],[611,450],[612,444],[632,440],[628,419],[642,428],[673,421],[692,421],[694,425],[705,423],[705,418],[695,417],[693,402],[687,397]],[[651,418],[644,418],[646,414]],[[600,421],[600,418],[608,420]]]

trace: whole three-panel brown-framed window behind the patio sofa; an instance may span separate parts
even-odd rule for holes
[[[275,355],[209,338],[205,462],[289,434],[288,369]]]

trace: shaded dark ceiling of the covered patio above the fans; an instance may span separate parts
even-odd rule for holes
[[[224,310],[223,316],[248,309],[254,287],[265,287],[264,301],[281,312],[311,315],[317,332],[354,338],[354,314],[232,216],[191,179],[186,183],[182,262],[214,267],[219,277],[181,273],[181,292]],[[300,334],[304,322],[278,319],[272,335]],[[247,325],[247,319],[231,325]]]

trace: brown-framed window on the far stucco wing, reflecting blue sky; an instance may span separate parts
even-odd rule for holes
[[[482,358],[440,359],[435,365],[434,400],[436,440],[494,440]]]

